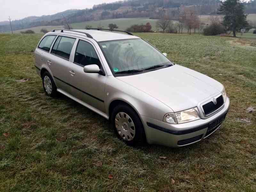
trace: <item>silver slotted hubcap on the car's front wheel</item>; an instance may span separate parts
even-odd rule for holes
[[[116,130],[122,139],[131,141],[135,136],[135,126],[132,118],[124,112],[116,114]]]

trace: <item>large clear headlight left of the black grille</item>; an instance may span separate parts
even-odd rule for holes
[[[200,119],[197,112],[197,108],[192,108],[192,109],[180,111],[177,113],[167,113],[164,116],[164,122],[171,123],[171,124],[186,123],[186,122],[194,121],[197,119]]]

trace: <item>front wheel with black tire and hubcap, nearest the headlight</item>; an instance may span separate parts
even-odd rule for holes
[[[111,124],[117,137],[127,145],[143,143],[145,132],[137,113],[128,105],[117,105],[111,115]]]

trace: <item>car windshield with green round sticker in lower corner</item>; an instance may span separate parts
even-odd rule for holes
[[[156,48],[139,38],[99,44],[115,74],[135,74],[173,65]]]

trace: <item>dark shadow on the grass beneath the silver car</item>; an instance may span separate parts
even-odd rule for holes
[[[123,145],[124,142],[122,140],[119,140],[116,142],[116,134],[114,133],[114,130],[112,129],[111,123],[105,119],[104,117],[100,116],[99,114],[93,112],[92,110],[84,107],[83,105],[77,103],[74,100],[71,100],[67,96],[60,94],[58,96],[59,100],[63,100],[68,107],[72,107],[76,110],[79,114],[84,114],[84,118],[81,116],[75,117],[77,118],[76,121],[83,121],[84,119],[87,119],[90,121],[90,124],[97,124],[97,126],[100,127],[99,130],[96,130],[97,133],[97,140],[101,144],[104,145],[104,143],[115,143],[113,147],[118,147],[118,144]],[[214,134],[220,132],[220,130],[217,130]],[[171,148],[171,147],[165,147],[161,145],[149,145],[147,142],[140,143],[136,146],[128,146],[132,150],[140,150],[143,153],[153,153],[155,155],[159,156],[175,156],[175,155],[181,155],[181,154],[204,154],[208,153],[209,150],[217,151],[220,146],[216,142],[213,142],[217,136],[211,135],[210,137],[201,140],[197,143],[194,143],[189,146],[184,146],[180,148]]]

